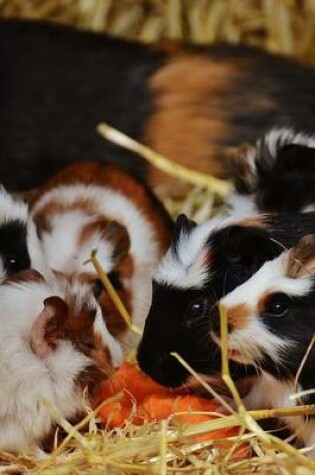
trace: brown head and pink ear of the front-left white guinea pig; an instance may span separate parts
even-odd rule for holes
[[[76,385],[87,387],[95,403],[99,383],[121,364],[122,350],[108,332],[99,305],[80,281],[68,283],[64,298],[46,298],[32,326],[30,344],[40,359],[53,358],[61,341],[70,342],[76,353],[87,358],[89,363],[77,375]]]

